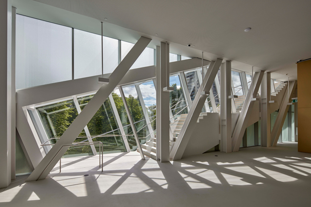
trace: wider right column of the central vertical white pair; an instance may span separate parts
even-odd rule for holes
[[[160,73],[156,73],[156,78],[159,79],[160,90],[156,93],[160,93],[160,131],[157,133],[157,141],[160,140],[160,160],[161,162],[170,161],[170,93],[166,89],[169,88],[170,83],[170,45],[161,42],[160,48]]]

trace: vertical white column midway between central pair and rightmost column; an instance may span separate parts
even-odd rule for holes
[[[221,65],[221,110],[220,110],[220,133],[221,151],[231,152],[231,62],[226,61]]]

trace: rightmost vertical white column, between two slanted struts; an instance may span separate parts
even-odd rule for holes
[[[260,111],[261,111],[261,146],[271,146],[271,118],[270,118],[270,90],[271,90],[271,73],[267,72],[263,75],[261,81],[260,93]]]

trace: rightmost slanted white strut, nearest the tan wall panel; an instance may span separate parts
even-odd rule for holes
[[[289,82],[289,87],[286,89],[285,95],[283,97],[281,106],[278,110],[276,116],[276,122],[274,123],[272,132],[271,132],[271,145],[276,146],[278,137],[282,131],[282,126],[286,119],[286,114],[291,105],[288,105],[292,98],[294,97],[294,92],[297,86],[297,81]],[[288,91],[289,90],[289,91]]]

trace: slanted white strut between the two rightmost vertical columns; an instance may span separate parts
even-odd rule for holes
[[[253,90],[252,91],[249,90],[249,93],[247,94],[245,98],[242,111],[240,113],[237,125],[232,135],[232,151],[233,152],[237,152],[240,149],[240,144],[242,142],[245,129],[247,127],[248,119],[251,116],[251,112],[252,112],[252,109],[255,103],[255,100],[253,97],[256,97],[258,94],[258,90],[259,90],[259,86],[260,86],[263,74],[264,74],[263,71],[255,73],[255,76],[251,84],[251,87],[253,88]],[[255,85],[254,87],[253,87],[253,84]]]

